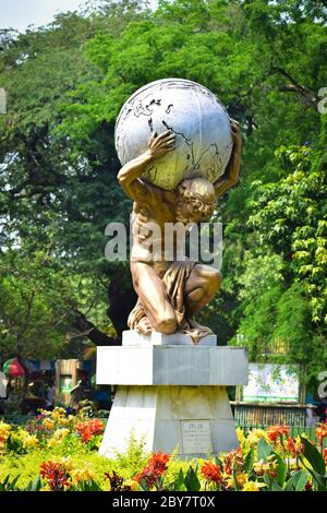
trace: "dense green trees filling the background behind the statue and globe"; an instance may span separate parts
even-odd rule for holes
[[[222,289],[203,320],[219,343],[299,362],[314,381],[327,362],[327,121],[318,108],[326,21],[324,2],[314,0],[161,0],[157,9],[107,1],[26,34],[1,34],[0,265],[13,266],[13,278],[0,276],[1,350],[16,337],[8,312],[24,323],[26,298],[15,295],[28,286],[39,323],[26,337],[38,341],[37,326],[46,325],[53,354],[65,333],[101,344],[120,337],[135,296],[128,264],[104,253],[106,225],[128,224],[131,208],[116,179],[114,121],[136,88],[175,76],[216,93],[244,142],[240,183],[217,214]],[[15,274],[16,259],[26,272],[40,265],[40,274],[29,270],[29,285]],[[37,286],[47,279],[53,294]]]

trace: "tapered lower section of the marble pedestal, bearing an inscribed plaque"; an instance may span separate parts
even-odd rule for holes
[[[99,454],[124,453],[132,436],[181,458],[238,446],[225,386],[119,386]]]

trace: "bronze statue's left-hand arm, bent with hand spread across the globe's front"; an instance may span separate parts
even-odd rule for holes
[[[134,201],[144,201],[148,188],[141,176],[153,162],[171,152],[174,148],[173,143],[174,134],[170,130],[160,135],[154,132],[148,140],[147,151],[121,168],[117,178],[128,196]]]

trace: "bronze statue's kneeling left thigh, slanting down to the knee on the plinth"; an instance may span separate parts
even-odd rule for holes
[[[144,262],[134,262],[131,271],[135,291],[153,329],[160,333],[174,333],[175,314],[156,270]]]

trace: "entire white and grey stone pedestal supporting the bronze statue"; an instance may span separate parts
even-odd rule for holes
[[[227,385],[245,384],[244,348],[209,335],[124,332],[123,345],[98,347],[97,383],[118,384],[100,454],[124,452],[134,436],[148,451],[191,458],[238,446]]]

